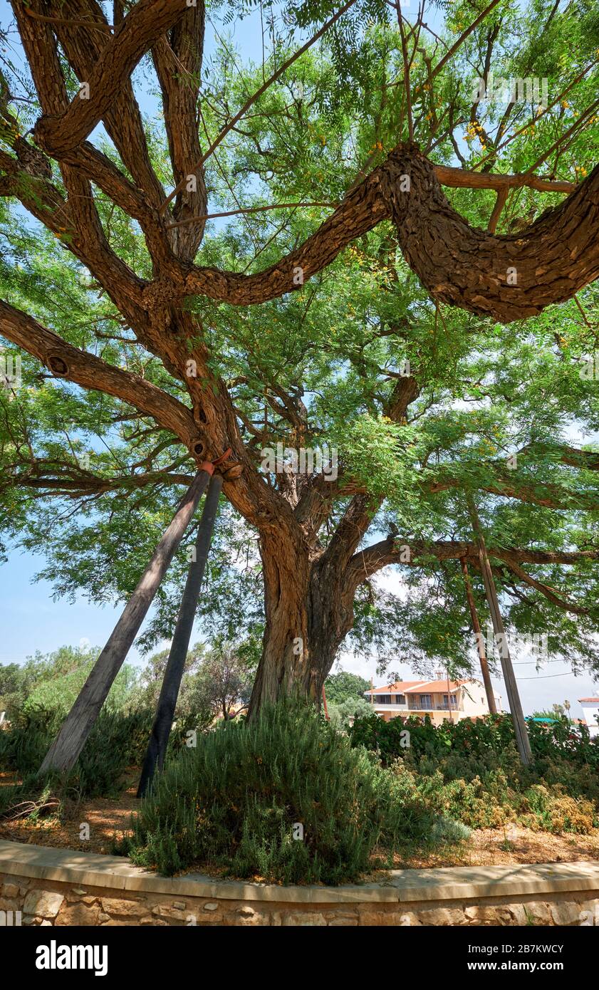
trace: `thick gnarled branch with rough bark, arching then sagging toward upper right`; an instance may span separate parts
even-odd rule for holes
[[[472,185],[482,183],[475,178]],[[193,267],[185,294],[242,306],[274,299],[300,287],[299,270],[303,280],[321,271],[385,219],[394,222],[407,263],[433,298],[504,323],[564,302],[599,276],[599,166],[527,230],[495,236],[470,227],[449,206],[436,166],[418,148],[400,146],[276,264],[252,275]]]

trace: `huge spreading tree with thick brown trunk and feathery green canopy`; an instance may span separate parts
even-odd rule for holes
[[[4,393],[3,511],[58,589],[131,590],[169,487],[231,447],[217,553],[246,567],[211,576],[235,627],[257,538],[252,711],[320,698],[352,629],[463,652],[465,493],[514,623],[590,656],[599,455],[572,436],[598,419],[596,5],[268,6],[254,65],[217,4],[207,66],[202,0],[12,7],[0,332],[32,360]],[[548,78],[548,104],[476,99],[492,72]],[[337,446],[339,476],[264,472],[279,442]],[[373,587],[392,564],[416,597]]]

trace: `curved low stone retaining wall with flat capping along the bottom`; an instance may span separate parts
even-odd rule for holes
[[[599,924],[599,864],[393,870],[383,883],[283,887],[0,841],[0,924],[513,926]],[[20,913],[20,915],[19,915]]]

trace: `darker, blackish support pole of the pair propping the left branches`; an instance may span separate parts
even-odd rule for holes
[[[161,770],[168,745],[168,738],[172,728],[172,720],[179,696],[181,678],[185,669],[187,650],[191,639],[191,631],[200,597],[200,588],[206,569],[206,561],[219,505],[219,496],[223,488],[223,478],[220,474],[214,474],[210,482],[202,519],[198,527],[195,542],[195,559],[191,560],[187,571],[187,580],[181,598],[177,624],[175,626],[168,661],[164,670],[160,697],[153,725],[151,727],[150,742],[142,768],[140,786],[138,787],[138,797],[142,798],[148,792],[154,773]]]

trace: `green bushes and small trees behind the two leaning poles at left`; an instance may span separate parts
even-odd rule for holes
[[[3,789],[5,804],[15,794],[37,794],[46,786],[35,775],[97,653],[94,647],[62,646],[37,653],[22,666],[0,666],[0,686],[10,701],[9,724],[0,731],[0,770],[14,771],[23,780],[14,793]],[[133,668],[122,668],[72,772],[62,781],[51,776],[57,792],[69,800],[116,794],[127,767],[141,766],[166,659],[167,651],[150,657],[139,681]],[[209,650],[194,646],[187,657],[169,754],[185,744],[189,731],[205,733],[215,715],[222,715],[223,692],[225,704],[231,706],[241,685],[248,690],[254,660],[251,642],[233,653],[222,644]]]

